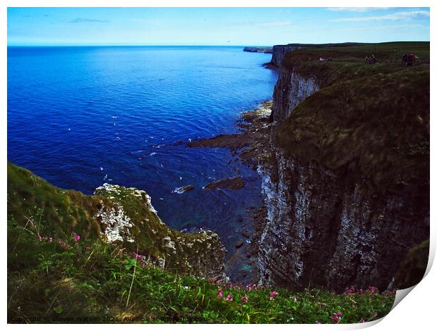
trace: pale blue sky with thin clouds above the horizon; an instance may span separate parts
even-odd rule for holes
[[[429,8],[8,8],[8,45],[429,41]]]

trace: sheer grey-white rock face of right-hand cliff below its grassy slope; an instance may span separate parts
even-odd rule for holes
[[[281,65],[295,49],[273,46],[271,62]],[[273,162],[259,167],[268,206],[259,240],[260,283],[386,289],[409,249],[429,237],[429,205],[405,192],[369,190],[364,176],[345,180],[344,169],[302,160],[276,144],[279,127],[320,86],[315,76],[279,68],[271,115]]]

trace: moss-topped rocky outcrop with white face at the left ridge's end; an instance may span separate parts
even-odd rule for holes
[[[216,233],[202,230],[189,235],[171,230],[159,218],[151,197],[141,189],[105,184],[94,194],[105,198],[94,216],[105,241],[151,256],[156,266],[166,270],[226,279],[226,249]]]

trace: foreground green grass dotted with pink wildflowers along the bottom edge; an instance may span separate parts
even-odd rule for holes
[[[73,238],[66,249],[8,224],[8,322],[359,323],[385,316],[393,294],[289,292],[221,284],[140,263],[121,246]],[[219,288],[223,298],[218,296]],[[226,296],[233,301],[227,301]],[[242,298],[247,296],[247,302]]]

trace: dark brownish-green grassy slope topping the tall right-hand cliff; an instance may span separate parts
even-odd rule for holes
[[[395,51],[395,49],[397,51]],[[400,65],[402,52],[419,60]],[[375,54],[378,64],[364,63]],[[331,63],[316,61],[319,56]],[[283,65],[312,76],[321,89],[278,131],[278,142],[303,161],[367,179],[372,192],[429,196],[429,43],[398,42],[302,49]]]

